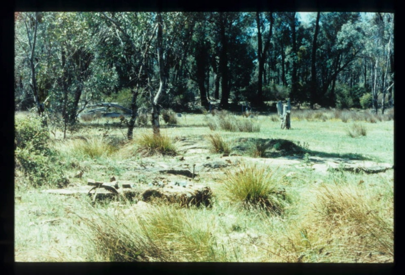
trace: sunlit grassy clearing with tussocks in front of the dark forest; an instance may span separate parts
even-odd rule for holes
[[[280,129],[279,119],[272,121],[271,117],[259,115],[260,132],[217,129],[213,135],[220,136],[226,144],[239,139],[292,141],[296,145],[300,143],[308,156],[371,158],[393,163],[392,121],[357,121],[367,126],[367,135],[352,139],[347,134],[348,123],[335,118],[333,112],[323,113],[328,117],[325,122],[321,117],[299,120],[294,118],[295,114],[299,115],[293,110],[291,130]],[[168,138],[173,141],[176,136],[184,136],[182,142],[189,147],[211,146],[204,138],[209,130],[204,115],[178,119],[180,123],[176,126],[162,125]],[[348,121],[350,123],[351,118]],[[159,158],[160,153],[147,157],[137,152],[137,141],[143,132],[135,131],[132,142],[121,142],[121,129],[111,129],[109,135],[102,138],[98,127],[80,130],[67,140],[52,140],[50,147],[58,156],[54,166],[63,170],[71,184],[86,185],[87,177],[108,181],[111,175],[118,176],[118,180],[147,184],[161,176],[148,173],[160,162],[187,169],[194,160],[205,160],[209,155],[204,149],[207,153],[204,150],[201,154],[185,152],[182,162],[170,155]],[[151,132],[151,129],[145,131]],[[112,150],[104,149],[101,151],[109,153],[91,157],[83,148],[93,136],[98,136],[97,139]],[[269,153],[275,150],[275,144],[271,144],[271,148],[265,145],[268,144],[259,144],[256,148],[252,143],[256,157],[264,151],[267,155],[262,157],[272,156]],[[74,146],[77,149],[74,150]],[[102,146],[105,145],[96,147]],[[276,145],[278,149],[283,146],[282,142]],[[221,156],[209,156],[212,161],[221,161]],[[393,261],[392,170],[379,174],[345,171],[320,174],[308,164],[300,168],[280,166],[274,172],[265,158],[250,158],[244,154],[244,157],[229,157],[229,160],[244,164],[207,172],[196,166],[199,173],[196,182],[209,186],[214,193],[212,207],[207,209],[144,203],[148,207],[142,210],[140,202],[93,207],[86,196],[43,194],[44,187],[33,188],[26,175],[17,169],[16,186],[24,184],[26,188],[16,188],[15,192],[15,259],[41,262]],[[253,163],[257,162],[262,164],[255,166]],[[138,166],[146,167],[145,172],[134,171]],[[84,171],[83,178],[74,177],[77,170]],[[263,182],[268,185],[263,186]],[[271,193],[283,189],[286,199],[282,198],[283,192]],[[270,214],[271,211],[263,207],[240,207],[267,201],[278,205],[282,214]]]

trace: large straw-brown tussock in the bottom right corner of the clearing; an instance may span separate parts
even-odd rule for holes
[[[356,186],[322,185],[316,191],[314,216],[322,226],[337,232],[344,228],[346,254],[361,249],[393,256],[393,202],[382,196]]]

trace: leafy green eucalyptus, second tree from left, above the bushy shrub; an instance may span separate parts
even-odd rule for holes
[[[49,89],[51,105],[53,110],[61,109],[64,136],[79,113],[116,84],[115,68],[98,54],[99,33],[91,25],[93,16],[77,12],[45,13],[46,45],[50,53],[47,63],[53,68],[53,73],[47,76],[53,81]]]

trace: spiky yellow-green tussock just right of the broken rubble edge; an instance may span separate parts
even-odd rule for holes
[[[223,179],[225,196],[247,208],[261,208],[282,214],[287,197],[273,173],[264,167],[242,164],[236,171],[227,171]]]

